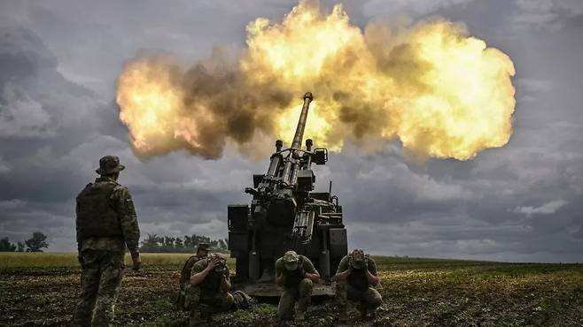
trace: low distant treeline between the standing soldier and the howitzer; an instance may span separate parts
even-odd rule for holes
[[[227,239],[211,240],[208,236],[197,234],[184,235],[182,239],[148,234],[148,237],[142,241],[140,252],[194,253],[199,243],[207,243],[211,247],[211,252],[228,252]]]

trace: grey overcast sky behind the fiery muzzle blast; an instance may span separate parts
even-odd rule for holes
[[[294,1],[0,1],[0,237],[74,245],[74,197],[99,157],[120,156],[143,235],[227,236],[229,203],[252,174],[237,151],[141,162],[117,118],[115,82],[137,53],[186,61],[245,46],[245,25],[280,20]],[[315,168],[334,181],[349,247],[379,255],[583,262],[583,2],[345,1],[353,23],[440,16],[507,53],[517,69],[514,133],[470,161],[408,161],[397,142],[347,147]],[[323,1],[330,8],[333,2]],[[263,146],[271,147],[272,142]]]

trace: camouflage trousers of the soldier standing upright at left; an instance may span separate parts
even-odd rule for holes
[[[82,293],[74,326],[111,326],[115,301],[123,276],[123,253],[85,250],[82,253]]]

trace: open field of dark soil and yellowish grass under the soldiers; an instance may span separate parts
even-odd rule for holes
[[[187,256],[144,254],[144,270],[126,270],[116,323],[181,325],[186,316],[171,303]],[[582,264],[376,259],[385,303],[368,320],[351,312],[350,325],[583,326]],[[66,325],[79,277],[74,254],[0,253],[0,325]],[[214,316],[213,324],[268,326],[275,312],[275,305],[256,304]],[[305,325],[332,326],[336,318],[330,300],[316,300]]]

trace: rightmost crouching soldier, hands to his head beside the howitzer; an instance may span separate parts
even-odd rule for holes
[[[367,316],[369,310],[378,308],[383,302],[381,294],[371,287],[378,285],[377,263],[359,248],[342,258],[333,279],[336,281],[340,321],[347,319],[347,300],[358,302],[357,309],[362,317]]]

